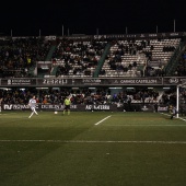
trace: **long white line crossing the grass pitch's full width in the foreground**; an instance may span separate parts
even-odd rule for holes
[[[186,141],[85,141],[85,140],[0,140],[0,142],[53,142],[53,143],[162,143],[186,144]]]

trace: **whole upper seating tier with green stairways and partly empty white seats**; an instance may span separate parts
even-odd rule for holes
[[[31,37],[1,39],[0,45],[2,77],[121,78],[173,75],[185,43],[181,37],[112,40],[88,37],[55,43]],[[53,67],[38,68],[38,61],[53,61]]]

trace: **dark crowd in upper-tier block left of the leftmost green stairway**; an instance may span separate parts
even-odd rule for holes
[[[50,47],[49,40],[36,37],[0,39],[0,78],[30,77],[30,68],[46,60]]]

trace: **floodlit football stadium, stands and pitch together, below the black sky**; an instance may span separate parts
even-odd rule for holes
[[[0,48],[2,186],[185,185],[185,32]]]

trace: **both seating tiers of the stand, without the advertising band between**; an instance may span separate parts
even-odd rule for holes
[[[184,37],[46,37],[0,39],[1,78],[149,78],[186,74]],[[112,92],[108,86],[24,91],[3,89],[4,103],[27,103],[32,93],[39,103],[60,103],[71,95],[73,104],[175,103],[175,90],[156,91],[147,86]],[[11,96],[10,96],[11,95]],[[182,92],[184,96],[184,91]],[[185,100],[185,96],[184,96]]]

